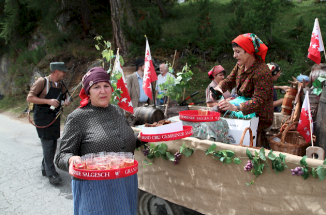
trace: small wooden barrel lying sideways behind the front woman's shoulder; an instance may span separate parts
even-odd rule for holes
[[[152,124],[164,119],[164,113],[154,107],[135,107],[133,108],[133,114],[136,117],[136,125]]]

